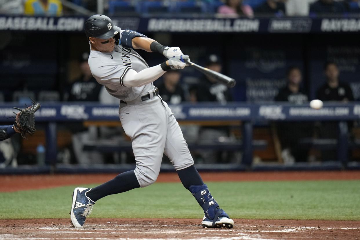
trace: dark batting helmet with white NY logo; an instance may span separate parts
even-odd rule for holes
[[[88,39],[89,37],[110,39],[120,32],[121,28],[114,26],[109,17],[96,14],[85,21],[84,30]]]

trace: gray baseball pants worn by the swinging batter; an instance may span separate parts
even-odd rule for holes
[[[134,171],[141,187],[156,181],[163,153],[176,170],[194,164],[179,123],[160,96],[136,105],[120,103],[119,116],[131,139],[136,161]]]

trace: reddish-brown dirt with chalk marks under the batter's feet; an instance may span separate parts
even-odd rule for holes
[[[199,219],[89,218],[83,229],[69,219],[0,220],[0,240],[48,239],[360,239],[360,222],[235,219],[232,229],[203,228]]]

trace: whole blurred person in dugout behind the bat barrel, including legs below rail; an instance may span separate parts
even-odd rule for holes
[[[205,67],[215,72],[221,72],[219,56],[211,54],[207,57]],[[199,84],[190,90],[193,102],[217,102],[226,104],[232,100],[228,87],[217,83],[214,79],[203,76]],[[201,144],[217,144],[220,138],[229,137],[229,127],[202,126],[199,130],[198,142]],[[228,162],[228,152],[203,150],[200,152],[205,163]]]

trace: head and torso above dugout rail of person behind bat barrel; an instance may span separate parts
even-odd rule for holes
[[[219,56],[215,54],[208,56],[205,67],[215,72],[221,72]],[[226,104],[233,99],[228,87],[205,75],[201,78],[200,83],[190,90],[190,97],[193,102],[215,101],[221,104]]]

